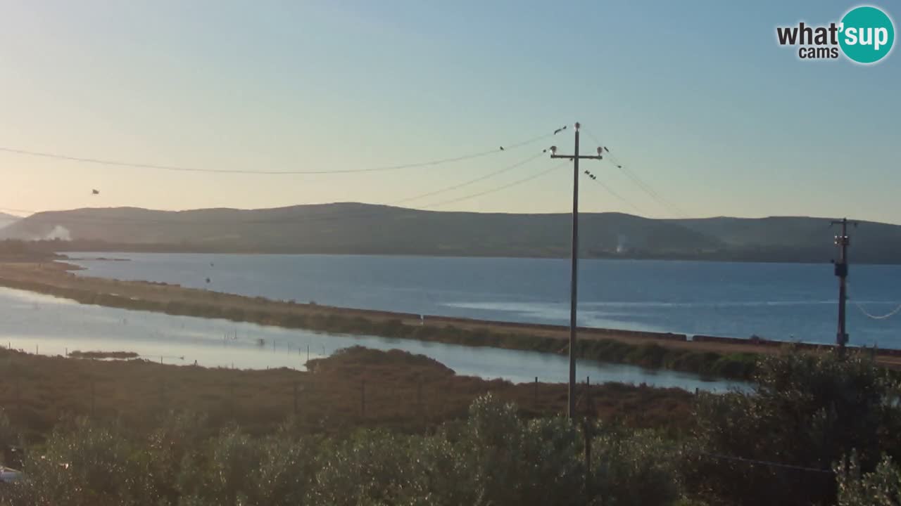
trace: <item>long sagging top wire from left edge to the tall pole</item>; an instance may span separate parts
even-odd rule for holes
[[[255,176],[286,176],[286,175],[329,175],[329,174],[359,174],[364,172],[380,172],[387,170],[398,170],[402,168],[415,168],[415,167],[431,167],[446,163],[459,162],[463,160],[469,160],[473,158],[482,158],[487,157],[489,155],[494,155],[497,153],[503,153],[505,151],[511,149],[521,148],[523,146],[533,144],[542,139],[547,139],[553,136],[553,133],[546,133],[536,137],[532,137],[531,139],[522,140],[519,142],[514,142],[513,144],[508,144],[502,146],[501,149],[487,149],[485,151],[478,151],[475,153],[469,153],[467,155],[462,155],[458,157],[451,158],[440,158],[434,160],[428,160],[423,162],[415,162],[408,164],[400,164],[400,165],[391,165],[385,167],[366,167],[366,168],[347,168],[347,169],[338,169],[338,170],[242,170],[242,169],[225,169],[225,168],[199,168],[199,167],[180,167],[180,166],[170,166],[170,165],[157,165],[150,163],[136,163],[130,161],[117,161],[105,158],[84,158],[84,157],[75,157],[68,154],[62,153],[51,153],[46,151],[32,151],[30,149],[17,149],[17,148],[8,148],[8,147],[0,147],[0,151],[4,151],[6,153],[13,153],[16,155],[23,155],[29,157],[40,157],[40,158],[53,158],[59,160],[67,160],[78,163],[87,163],[94,165],[102,165],[107,167],[132,167],[132,168],[147,168],[154,170],[169,170],[176,172],[201,172],[201,173],[210,173],[210,174],[249,174]]]

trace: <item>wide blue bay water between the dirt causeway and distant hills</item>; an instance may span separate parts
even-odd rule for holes
[[[344,255],[105,253],[79,274],[397,312],[565,324],[569,260]],[[71,253],[96,258],[96,253]],[[206,279],[209,278],[209,283]],[[901,303],[901,266],[851,266],[850,294],[870,313]],[[579,323],[831,343],[831,264],[583,260]],[[851,344],[901,348],[901,315],[882,321],[849,306]]]

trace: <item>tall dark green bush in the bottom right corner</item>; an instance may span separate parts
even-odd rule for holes
[[[883,452],[897,457],[896,392],[868,357],[767,357],[751,392],[699,398],[691,447],[696,457],[687,480],[696,491],[737,504],[833,504],[830,470],[843,456],[856,451],[864,471],[873,470]]]

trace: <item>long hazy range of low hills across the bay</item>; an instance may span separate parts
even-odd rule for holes
[[[579,246],[589,258],[823,262],[834,252],[828,221],[655,220],[590,212],[580,217]],[[565,213],[432,212],[364,203],[106,208],[40,212],[0,230],[0,239],[61,239],[60,247],[69,250],[567,257],[570,226]],[[855,261],[901,262],[901,226],[861,222],[852,245]]]

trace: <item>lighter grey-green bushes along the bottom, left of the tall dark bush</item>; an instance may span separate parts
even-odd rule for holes
[[[523,420],[491,395],[473,402],[466,420],[426,436],[360,430],[319,440],[287,427],[263,438],[237,428],[204,438],[201,420],[170,417],[150,440],[86,420],[66,424],[29,457],[22,483],[0,488],[0,501],[652,506],[673,503],[680,491],[660,438],[598,427],[587,474],[585,441],[569,420]]]

